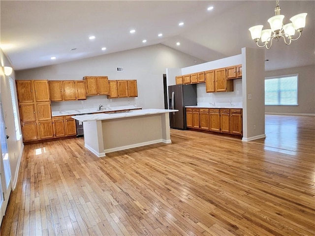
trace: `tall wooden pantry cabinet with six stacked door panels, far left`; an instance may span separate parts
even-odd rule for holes
[[[47,80],[17,80],[23,141],[54,137]]]

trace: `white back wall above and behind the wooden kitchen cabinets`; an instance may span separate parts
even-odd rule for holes
[[[177,50],[157,44],[124,52],[16,72],[18,80],[82,80],[83,76],[108,76],[109,80],[137,80],[137,98],[92,96],[83,101],[52,102],[52,110],[73,110],[110,105],[136,104],[143,108],[164,108],[163,74],[166,68],[181,68],[204,62]],[[118,72],[116,67],[124,71]]]

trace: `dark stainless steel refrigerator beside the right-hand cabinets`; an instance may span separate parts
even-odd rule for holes
[[[172,85],[168,87],[168,108],[179,110],[169,114],[170,127],[187,129],[185,106],[197,105],[197,87],[193,85]]]

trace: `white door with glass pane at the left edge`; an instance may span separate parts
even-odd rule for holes
[[[0,183],[1,183],[1,207],[0,207],[0,218],[2,221],[2,217],[5,213],[6,206],[8,204],[9,196],[11,193],[11,171],[10,171],[10,160],[8,153],[8,146],[5,133],[5,123],[3,117],[3,109],[1,102],[1,94],[0,94],[0,143],[1,143],[1,157],[0,157]]]

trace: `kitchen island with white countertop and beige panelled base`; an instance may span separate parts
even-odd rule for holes
[[[177,111],[143,109],[72,118],[83,122],[85,147],[103,157],[108,152],[171,143],[169,113]]]

